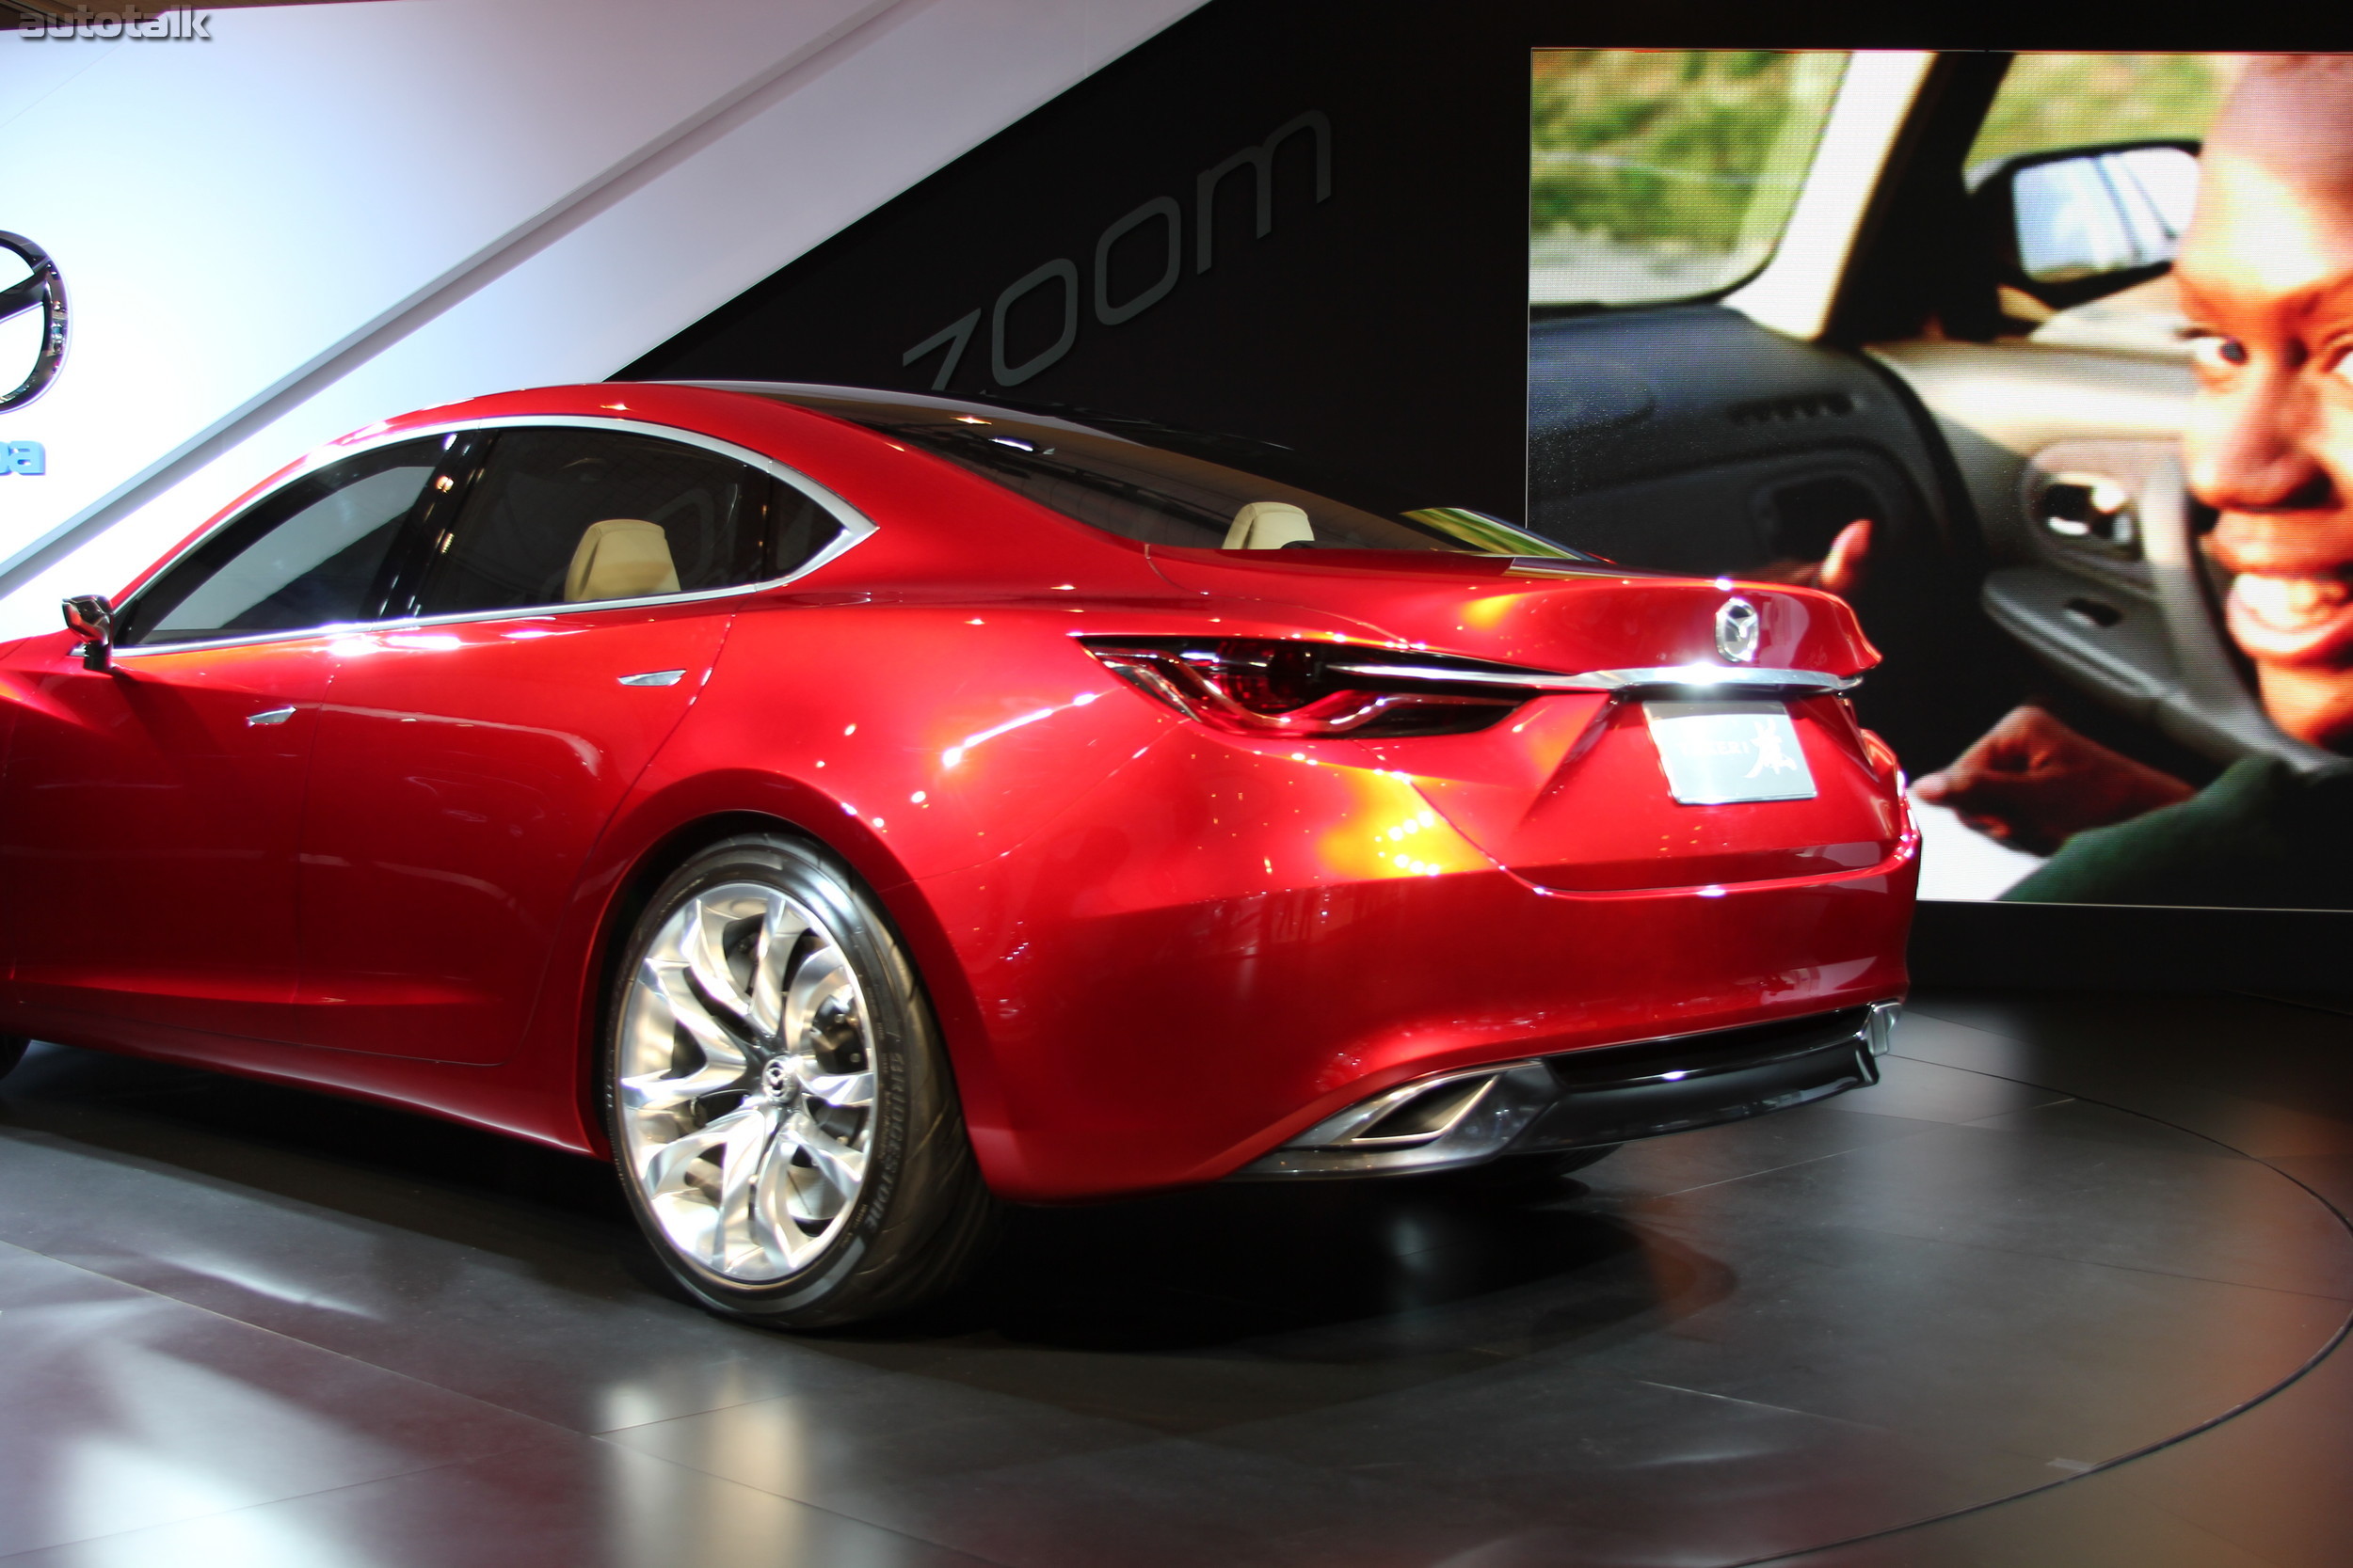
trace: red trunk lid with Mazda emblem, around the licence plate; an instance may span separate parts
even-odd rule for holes
[[[1758,611],[1748,668],[1854,677],[1878,663],[1845,602],[1772,583],[1438,552],[1153,548],[1153,564],[1193,592],[1313,607],[1400,644],[1534,670],[1729,665],[1715,616],[1732,597]],[[1854,877],[1908,853],[1894,759],[1873,750],[1845,698],[1746,701],[1788,715],[1812,797],[1678,802],[1640,693],[1539,696],[1466,736],[1353,745],[1367,766],[1409,776],[1501,865],[1569,896]]]

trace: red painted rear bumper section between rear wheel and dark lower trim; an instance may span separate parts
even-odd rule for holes
[[[1078,1201],[1224,1180],[1435,1074],[1901,997],[1915,877],[1906,849],[1546,891],[1409,776],[1179,733],[908,893],[944,936],[934,992],[969,987],[941,1013],[988,1185]]]

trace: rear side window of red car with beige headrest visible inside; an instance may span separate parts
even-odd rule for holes
[[[838,524],[767,473],[621,430],[506,430],[428,545],[416,614],[595,604],[758,583]]]

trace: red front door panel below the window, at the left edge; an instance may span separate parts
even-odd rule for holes
[[[0,922],[21,1004],[285,1039],[322,639],[5,670]]]

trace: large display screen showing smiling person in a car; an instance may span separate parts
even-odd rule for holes
[[[1925,898],[2353,907],[2353,59],[1529,89],[1532,527],[1849,599]]]

